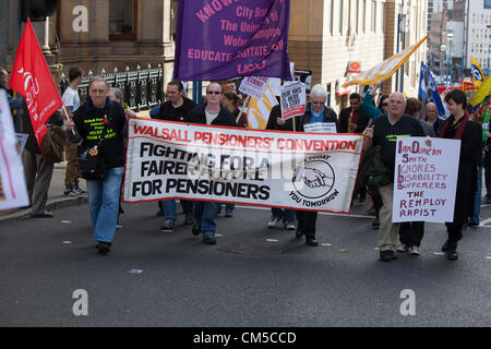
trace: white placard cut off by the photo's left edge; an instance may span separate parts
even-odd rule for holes
[[[7,94],[0,91],[0,209],[29,204]]]

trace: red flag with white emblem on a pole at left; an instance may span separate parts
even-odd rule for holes
[[[27,20],[19,44],[9,88],[25,97],[34,133],[40,145],[40,140],[48,132],[46,122],[63,104],[31,20]]]

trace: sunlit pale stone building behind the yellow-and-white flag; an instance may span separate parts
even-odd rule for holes
[[[313,71],[312,84],[321,83],[331,91],[331,106],[338,111],[349,103],[349,93],[360,89],[359,86],[350,89],[340,87],[346,79],[356,75],[347,73],[348,62],[359,62],[363,71],[403,47],[418,43],[427,35],[427,2],[291,0],[290,60],[298,69]],[[399,14],[405,14],[406,32],[403,32],[403,23],[398,25]],[[398,76],[394,74],[384,83],[384,93],[397,89],[407,96],[417,96],[421,61],[426,61],[424,44],[411,56]]]

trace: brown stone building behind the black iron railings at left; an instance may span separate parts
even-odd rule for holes
[[[15,1],[9,1],[12,17]],[[168,80],[173,70],[177,3],[177,0],[59,0],[55,15],[33,25],[56,79],[62,73],[68,75],[71,67],[96,75],[115,69],[146,69],[149,64],[163,67]],[[13,63],[15,25],[11,21],[7,65]]]

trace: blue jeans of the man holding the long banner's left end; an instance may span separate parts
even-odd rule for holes
[[[108,170],[104,181],[87,181],[88,207],[96,241],[112,241],[123,173],[123,167],[116,167]]]

